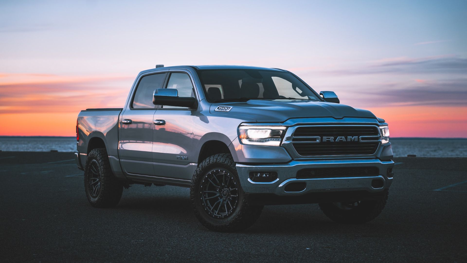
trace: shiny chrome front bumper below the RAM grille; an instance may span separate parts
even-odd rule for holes
[[[379,169],[377,176],[332,177],[297,179],[297,172],[304,168],[348,168],[374,166]],[[240,183],[245,193],[251,194],[276,194],[278,196],[304,195],[316,192],[340,192],[340,191],[368,191],[381,192],[388,189],[392,183],[392,173],[388,174],[388,168],[394,167],[394,161],[381,161],[379,159],[356,160],[328,160],[328,161],[290,161],[283,164],[259,164],[248,165],[237,163],[237,172]],[[276,172],[277,180],[269,183],[253,182],[249,179],[250,172]],[[389,177],[388,177],[389,175]],[[382,181],[382,187],[374,188],[374,180]],[[290,183],[305,183],[304,190],[297,192],[286,191]],[[380,182],[381,183],[381,182]]]

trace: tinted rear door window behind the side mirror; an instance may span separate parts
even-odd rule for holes
[[[158,73],[142,77],[138,87],[136,87],[132,107],[134,109],[156,108],[156,105],[152,104],[154,90],[163,88],[166,75],[167,73]]]

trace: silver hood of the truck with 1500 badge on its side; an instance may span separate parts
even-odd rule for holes
[[[231,106],[229,111],[215,111],[218,106]],[[237,115],[253,118],[257,122],[284,122],[290,118],[306,117],[363,117],[376,118],[368,110],[332,102],[311,102],[304,100],[249,100],[248,102],[225,102],[211,105],[210,112],[220,115]]]

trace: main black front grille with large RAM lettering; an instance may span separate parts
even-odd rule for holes
[[[362,138],[361,136],[374,136]],[[378,136],[378,137],[376,137]],[[320,137],[316,139],[306,137]],[[339,138],[340,141],[324,141],[323,137]],[[353,139],[349,139],[353,138]],[[302,126],[292,134],[292,145],[301,156],[329,156],[329,155],[372,155],[376,152],[380,142],[379,131],[376,126],[357,125],[323,125]]]

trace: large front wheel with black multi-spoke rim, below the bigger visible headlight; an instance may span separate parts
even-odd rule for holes
[[[196,169],[191,181],[191,206],[208,229],[233,232],[252,226],[262,206],[248,205],[232,155],[215,154]]]

